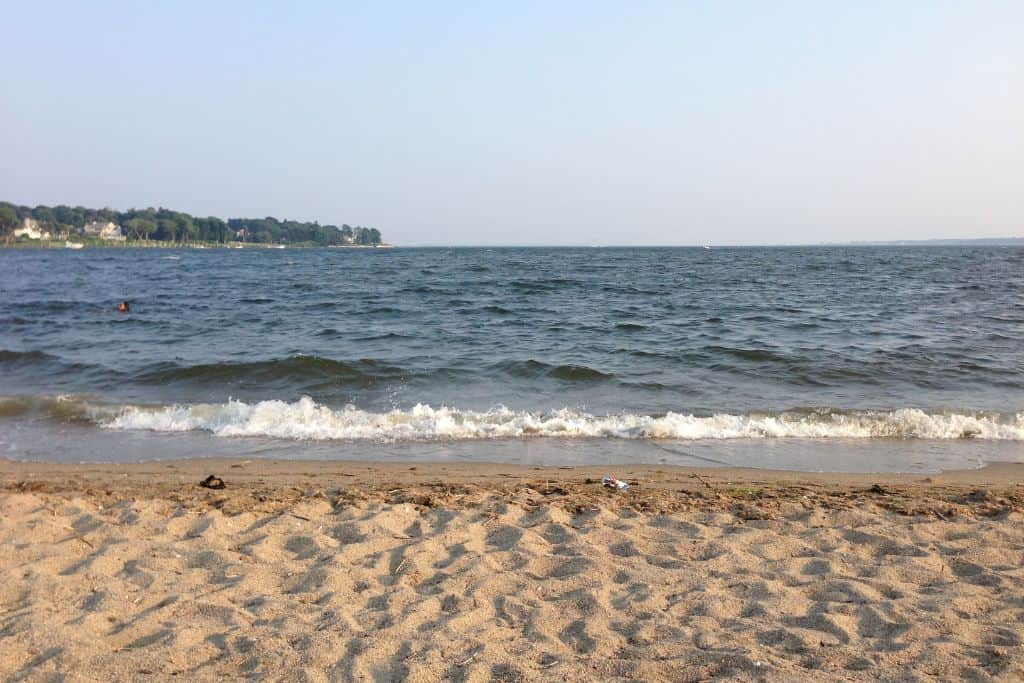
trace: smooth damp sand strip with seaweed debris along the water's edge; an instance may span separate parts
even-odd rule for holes
[[[625,492],[602,486],[611,474]],[[220,477],[219,490],[199,486]],[[733,467],[532,466],[347,460],[198,458],[142,463],[0,460],[0,490],[68,496],[173,499],[225,513],[276,509],[312,496],[345,505],[415,502],[473,507],[486,498],[565,508],[611,506],[645,511],[730,510],[768,514],[787,503],[829,509],[877,505],[939,518],[1024,511],[1024,463],[920,473],[799,472]]]

